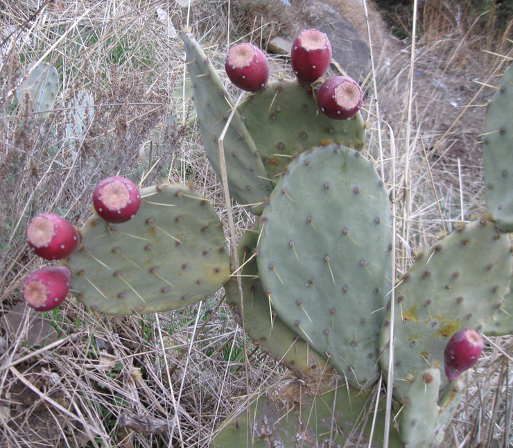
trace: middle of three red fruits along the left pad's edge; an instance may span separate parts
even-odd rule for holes
[[[80,242],[80,236],[73,224],[52,213],[35,216],[28,223],[26,239],[35,254],[46,260],[67,257]]]

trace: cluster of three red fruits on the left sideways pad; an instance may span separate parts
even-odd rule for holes
[[[115,176],[102,180],[93,193],[96,213],[108,223],[124,223],[132,219],[141,205],[137,185]],[[80,243],[80,234],[69,221],[56,214],[35,216],[26,230],[28,245],[46,260],[69,257]],[[69,293],[71,272],[67,266],[46,266],[29,275],[24,282],[23,298],[37,311],[51,311]]]

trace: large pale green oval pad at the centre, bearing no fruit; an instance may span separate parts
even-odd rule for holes
[[[390,203],[372,164],[336,144],[307,150],[261,226],[259,272],[278,315],[351,386],[372,384],[392,273]]]

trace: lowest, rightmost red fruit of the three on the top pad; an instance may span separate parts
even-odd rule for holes
[[[363,92],[353,78],[334,76],[322,83],[317,92],[319,109],[334,120],[349,119],[360,110]]]

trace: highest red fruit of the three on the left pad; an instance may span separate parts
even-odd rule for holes
[[[93,205],[107,223],[125,223],[139,210],[141,194],[131,180],[113,176],[103,179],[94,189]]]

